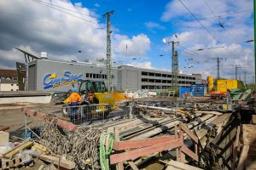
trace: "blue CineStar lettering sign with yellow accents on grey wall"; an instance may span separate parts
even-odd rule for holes
[[[55,88],[59,86],[64,86],[68,84],[73,84],[82,81],[82,74],[73,75],[70,71],[64,71],[63,77],[57,77],[56,73],[46,74],[43,78],[44,89]]]

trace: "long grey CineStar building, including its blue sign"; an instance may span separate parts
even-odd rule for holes
[[[81,80],[107,82],[103,63],[37,59],[28,63],[28,90],[67,91],[77,87]],[[179,87],[201,83],[201,75],[180,74]],[[106,83],[107,84],[107,83]],[[172,72],[137,68],[128,65],[113,66],[113,88],[119,91],[140,89],[165,89],[172,86]]]

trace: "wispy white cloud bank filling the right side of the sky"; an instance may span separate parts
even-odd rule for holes
[[[253,7],[253,2],[249,0],[206,1],[211,6],[214,15],[217,16],[243,11]],[[182,2],[198,19],[213,16],[204,1],[182,0]],[[216,57],[223,58],[220,65],[221,76],[227,78],[235,77],[234,64],[239,64],[243,67],[252,66],[253,46],[243,43],[244,41],[253,39],[253,24],[248,24],[253,20],[252,11],[221,15],[218,19],[201,20],[201,23],[210,31],[209,33],[189,14],[188,10],[178,0],[168,3],[165,12],[161,16],[161,20],[166,22],[178,20],[178,31],[166,38],[170,41],[180,42],[180,46],[177,45],[176,48],[180,52],[179,56],[186,59],[179,66],[180,70],[183,72],[198,72],[204,77],[215,76],[217,72],[217,61],[212,58]],[[219,22],[224,26],[224,29],[218,26]],[[197,51],[199,48],[214,47],[224,48]],[[246,71],[246,69],[241,68],[240,71]]]

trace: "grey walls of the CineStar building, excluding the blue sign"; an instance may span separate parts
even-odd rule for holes
[[[42,59],[29,63],[27,83],[28,90],[67,91],[72,88],[71,84],[48,89],[44,89],[43,85],[43,79],[46,74],[56,73],[57,77],[63,77],[64,71],[70,71],[75,75],[82,74],[82,79],[84,80],[100,80],[107,84],[106,78],[86,77],[86,73],[107,75],[106,67],[104,65],[91,65]],[[143,72],[152,73],[153,76],[149,74],[142,75]],[[166,75],[169,75],[169,77]],[[113,76],[113,88],[121,91],[125,91],[126,89],[137,91],[142,88],[169,88],[172,86],[172,73],[168,71],[156,71],[129,65],[120,65],[118,68],[113,68]],[[152,80],[154,81],[152,82]],[[201,82],[201,75],[180,74],[178,81],[179,86],[190,87],[191,83]]]

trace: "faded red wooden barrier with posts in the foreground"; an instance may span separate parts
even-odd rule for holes
[[[175,135],[154,137],[151,139],[135,139],[119,141],[119,131],[114,129],[115,141],[113,142],[113,150],[115,154],[110,156],[110,164],[116,164],[117,170],[123,170],[124,161],[128,161],[133,169],[138,169],[132,160],[141,156],[148,156],[164,150],[176,149],[177,161],[184,162],[185,155],[192,158],[194,161],[200,163],[200,149],[201,143],[195,133],[192,133],[183,122],[180,122],[178,127],[175,126]],[[190,150],[186,144],[184,144],[184,133],[195,144],[195,152]],[[125,151],[124,151],[125,150]]]

